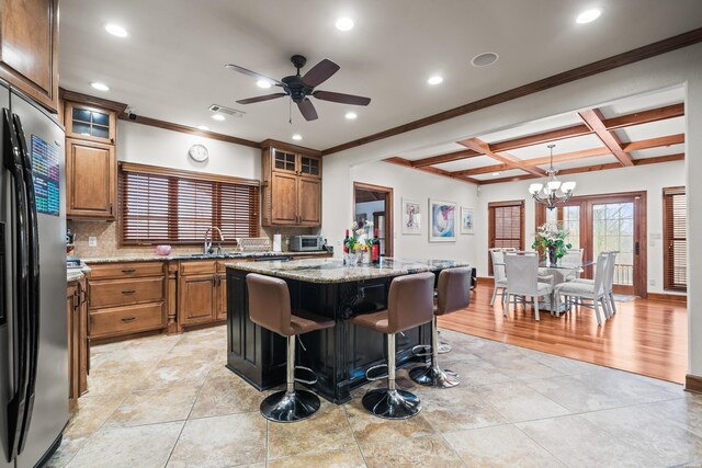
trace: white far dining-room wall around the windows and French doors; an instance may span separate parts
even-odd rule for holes
[[[575,181],[578,183],[576,195],[598,195],[618,192],[646,191],[646,215],[648,233],[648,292],[664,293],[663,289],[663,240],[652,239],[652,235],[663,236],[663,189],[684,185],[684,162],[667,162],[663,164],[639,165],[627,169],[613,169],[588,172],[581,174],[564,175],[562,181]],[[478,252],[487,252],[488,248],[488,212],[490,202],[506,202],[511,199],[524,199],[524,247],[526,249],[534,242],[535,230],[535,202],[529,194],[529,184],[533,180],[508,182],[503,184],[482,185],[479,208],[476,213],[476,243]],[[653,236],[655,237],[655,236]],[[487,276],[487,254],[478,254],[478,275]],[[656,285],[652,286],[650,281]]]

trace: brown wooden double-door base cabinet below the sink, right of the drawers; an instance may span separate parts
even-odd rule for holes
[[[181,262],[178,278],[178,322],[181,327],[227,319],[224,262]]]

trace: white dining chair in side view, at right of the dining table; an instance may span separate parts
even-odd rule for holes
[[[595,279],[590,282],[584,281],[571,281],[568,283],[562,283],[555,288],[555,301],[556,301],[556,315],[561,315],[561,296],[565,297],[565,303],[567,305],[566,310],[574,310],[570,307],[571,298],[578,298],[580,301],[578,303],[579,307],[587,307],[589,309],[595,310],[595,316],[597,318],[597,323],[599,326],[602,324],[602,317],[600,315],[600,307],[602,307],[602,311],[604,312],[605,319],[609,319],[609,305],[608,303],[608,294],[607,294],[607,279],[609,275],[609,263],[610,263],[610,253],[602,252],[597,258],[597,267],[595,270]],[[590,300],[592,304],[586,304],[582,300]]]

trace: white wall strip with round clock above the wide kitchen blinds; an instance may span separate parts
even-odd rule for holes
[[[195,144],[207,148],[207,161],[197,163],[188,157],[188,150]],[[117,160],[261,179],[260,149],[127,121],[117,121]]]

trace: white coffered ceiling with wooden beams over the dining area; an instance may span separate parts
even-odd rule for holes
[[[489,184],[684,159],[681,87],[576,110],[461,141],[399,153],[387,162]]]

